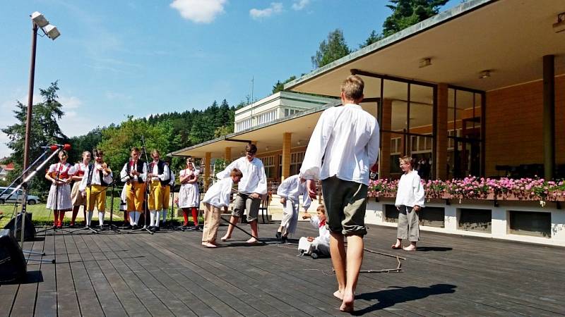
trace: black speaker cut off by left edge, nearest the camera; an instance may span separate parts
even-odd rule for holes
[[[0,283],[22,281],[26,275],[25,259],[10,230],[0,230]]]

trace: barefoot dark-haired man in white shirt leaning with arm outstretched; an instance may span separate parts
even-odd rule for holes
[[[256,145],[247,144],[245,153],[245,156],[233,161],[225,170],[216,174],[216,177],[220,180],[229,178],[234,168],[242,171],[243,178],[237,184],[237,197],[234,201],[234,210],[230,222],[237,223],[239,218],[243,216],[244,211],[247,210],[247,222],[251,225],[251,235],[253,235],[251,239],[247,240],[247,243],[256,243],[258,240],[255,237],[258,237],[259,233],[257,216],[261,197],[267,193],[267,176],[263,162],[255,157],[257,153]],[[234,226],[230,224],[221,240],[230,239],[233,231]]]

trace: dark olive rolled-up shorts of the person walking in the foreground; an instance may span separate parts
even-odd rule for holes
[[[367,185],[332,176],[322,180],[322,195],[331,232],[367,235]]]

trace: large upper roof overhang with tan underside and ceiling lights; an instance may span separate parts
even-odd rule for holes
[[[555,74],[565,73],[565,32],[552,24],[563,0],[472,0],[340,58],[285,89],[338,96],[353,69],[422,82],[489,91],[542,79],[542,56],[555,55]],[[420,68],[422,58],[432,65]],[[480,79],[482,70],[491,77]],[[365,85],[365,97],[379,97]]]

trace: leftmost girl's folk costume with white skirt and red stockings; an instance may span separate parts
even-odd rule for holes
[[[73,209],[71,186],[68,180],[74,175],[75,168],[69,163],[59,162],[49,166],[47,173],[53,180],[56,180],[57,184],[52,184],[49,189],[46,208],[53,210],[53,225],[57,228],[61,228],[63,226],[65,211]]]

